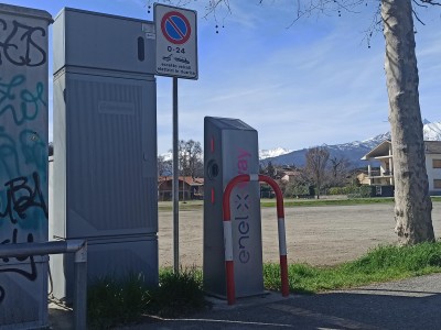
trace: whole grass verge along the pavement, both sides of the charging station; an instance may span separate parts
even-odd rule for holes
[[[331,267],[308,264],[289,265],[291,293],[315,294],[402,279],[441,272],[441,242],[412,246],[386,245],[370,250],[353,262]],[[136,323],[143,315],[180,317],[207,308],[202,286],[202,270],[192,267],[174,274],[162,268],[159,286],[148,288],[142,276],[123,282],[101,278],[89,286],[88,321],[90,329],[109,329]],[[263,265],[265,287],[280,290],[279,264]]]

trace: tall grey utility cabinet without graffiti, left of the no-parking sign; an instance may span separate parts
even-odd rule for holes
[[[88,280],[158,284],[153,23],[65,8],[54,22],[54,239],[87,239]],[[73,255],[51,257],[69,301]]]

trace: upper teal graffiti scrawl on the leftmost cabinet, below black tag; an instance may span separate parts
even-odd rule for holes
[[[26,78],[23,75],[13,77],[10,82],[1,82],[0,78],[0,118],[10,112],[17,125],[21,125],[26,120],[34,120],[39,114],[40,103],[44,107],[47,105],[43,100],[43,82],[37,82],[35,92],[32,92],[22,86]],[[20,109],[13,105],[18,96],[20,97]]]

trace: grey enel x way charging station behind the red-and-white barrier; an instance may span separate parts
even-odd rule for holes
[[[223,193],[239,174],[259,173],[257,131],[238,119],[204,120],[204,289],[226,296]],[[259,183],[230,195],[236,297],[263,294]]]

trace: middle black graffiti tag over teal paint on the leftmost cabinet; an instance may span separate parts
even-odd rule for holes
[[[45,218],[49,218],[46,202],[41,191],[40,177],[36,172],[32,174],[32,186],[24,176],[4,184],[7,187],[7,198],[4,210],[0,208],[0,220],[1,218],[8,218],[11,223],[17,223],[17,216],[21,220],[26,219],[26,211],[30,208],[40,208],[44,212]],[[0,204],[1,206],[2,204]]]

